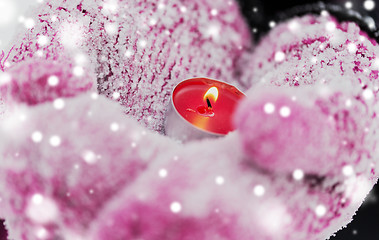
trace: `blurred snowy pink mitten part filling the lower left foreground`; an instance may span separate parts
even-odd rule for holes
[[[83,235],[109,199],[175,146],[103,96],[64,103],[20,104],[1,122],[0,214],[11,239]]]

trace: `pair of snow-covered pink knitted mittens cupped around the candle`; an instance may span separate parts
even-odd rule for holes
[[[379,48],[308,15],[254,48],[233,1],[47,1],[0,75],[10,239],[326,239],[378,177]],[[2,64],[4,61],[2,62]],[[173,86],[247,94],[237,130],[164,136]]]

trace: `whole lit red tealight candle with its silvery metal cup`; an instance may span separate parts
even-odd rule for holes
[[[171,95],[165,132],[178,140],[223,136],[234,130],[233,114],[245,95],[236,87],[208,78],[179,83]]]

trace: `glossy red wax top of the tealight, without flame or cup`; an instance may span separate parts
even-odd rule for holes
[[[211,87],[217,87],[216,101],[209,98],[209,109],[204,95]],[[176,111],[195,127],[215,134],[227,134],[234,130],[233,114],[238,102],[245,95],[236,87],[208,78],[193,78],[179,83],[172,94]]]

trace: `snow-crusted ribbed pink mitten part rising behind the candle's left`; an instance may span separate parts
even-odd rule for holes
[[[156,131],[175,84],[194,76],[233,82],[251,45],[238,4],[227,0],[47,1],[32,17],[38,24],[15,43],[10,65],[62,55],[77,71],[90,64],[99,93]]]

